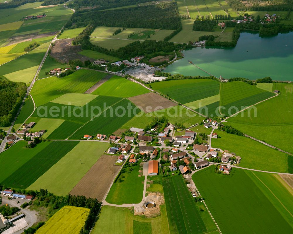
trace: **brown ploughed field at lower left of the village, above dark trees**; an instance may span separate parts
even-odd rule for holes
[[[109,185],[120,170],[119,166],[114,165],[116,160],[117,156],[103,154],[71,190],[70,194],[93,197],[102,201]]]

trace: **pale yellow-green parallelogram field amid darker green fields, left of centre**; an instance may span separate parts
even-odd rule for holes
[[[84,106],[96,97],[98,97],[98,95],[86,93],[65,93],[51,102],[64,105]]]

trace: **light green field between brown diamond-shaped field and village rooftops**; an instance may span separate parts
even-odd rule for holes
[[[181,113],[181,114],[180,114]],[[183,106],[169,107],[164,110],[155,112],[144,113],[141,116],[135,116],[125,123],[121,128],[130,129],[131,127],[145,128],[150,124],[155,117],[166,117],[171,124],[179,123],[185,127],[190,127],[204,119],[204,117],[187,110]]]

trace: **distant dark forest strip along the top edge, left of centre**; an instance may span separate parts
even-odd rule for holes
[[[75,10],[84,7],[93,7],[97,10],[103,10],[120,6],[135,5],[148,1],[149,0],[74,0],[69,2],[68,6]]]

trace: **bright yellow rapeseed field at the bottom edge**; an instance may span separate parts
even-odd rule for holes
[[[60,232],[78,234],[86,222],[90,210],[83,207],[64,206],[55,213],[36,233]]]

